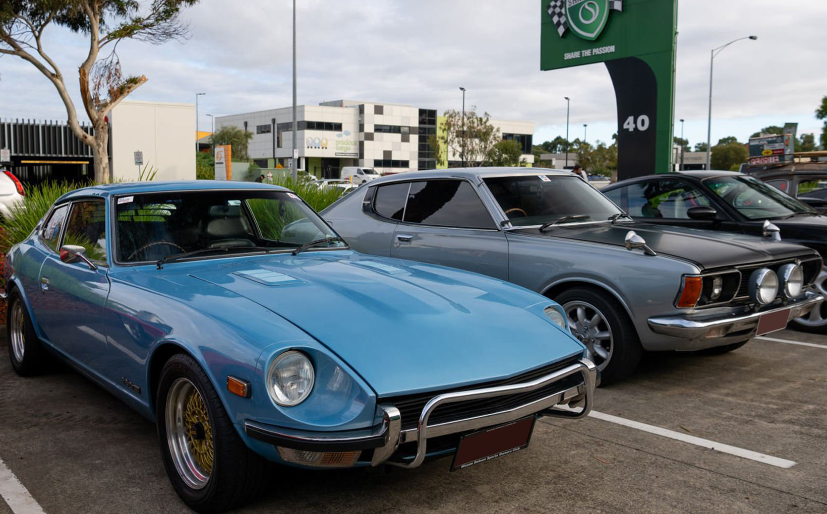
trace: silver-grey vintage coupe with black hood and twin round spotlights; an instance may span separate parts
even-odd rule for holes
[[[351,247],[476,271],[561,303],[603,383],[643,350],[724,353],[823,297],[814,250],[633,221],[566,171],[439,169],[362,185],[322,212]],[[507,322],[507,321],[504,321]]]

